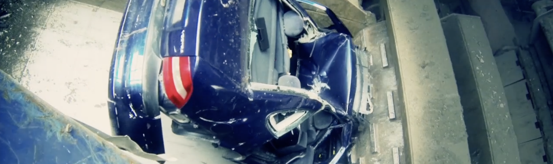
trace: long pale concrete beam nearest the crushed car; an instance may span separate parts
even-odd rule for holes
[[[384,1],[403,104],[406,163],[471,163],[463,108],[432,0]]]

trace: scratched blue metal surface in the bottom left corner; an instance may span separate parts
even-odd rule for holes
[[[138,163],[0,71],[0,163]]]

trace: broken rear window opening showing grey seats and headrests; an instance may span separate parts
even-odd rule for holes
[[[304,20],[280,1],[258,0],[252,22],[252,82],[299,87],[294,45],[305,33]]]

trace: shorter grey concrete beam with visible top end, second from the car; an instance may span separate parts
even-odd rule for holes
[[[520,163],[517,136],[479,17],[452,14],[442,27],[464,109],[473,162]]]

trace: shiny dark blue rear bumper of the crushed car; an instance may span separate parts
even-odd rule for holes
[[[155,21],[163,23],[159,15],[163,16],[164,9],[155,2],[131,0],[127,4],[109,72],[108,107],[114,135],[128,135],[145,152],[164,154],[157,104],[160,64],[155,62],[160,59],[151,52],[156,51],[152,45],[159,39],[154,36],[161,29]]]

